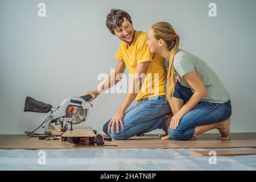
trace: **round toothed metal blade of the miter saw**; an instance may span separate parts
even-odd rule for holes
[[[77,125],[83,121],[86,121],[88,114],[89,114],[89,110],[88,109],[82,109],[81,106],[73,106],[75,108],[75,110],[73,111],[73,124]],[[68,107],[66,109],[66,115],[65,118],[71,118],[71,112],[68,110]],[[68,122],[70,123],[70,122]]]

